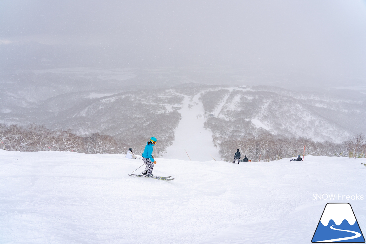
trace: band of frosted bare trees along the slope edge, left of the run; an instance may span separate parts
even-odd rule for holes
[[[50,130],[35,124],[28,126],[0,124],[0,140],[1,149],[7,151],[65,151],[85,154],[126,154],[129,147],[134,149],[135,154],[141,154],[147,141],[146,138],[141,137],[140,140],[129,143],[99,133],[79,135],[70,129]],[[169,144],[168,140],[157,144],[154,155],[161,155],[167,144]]]

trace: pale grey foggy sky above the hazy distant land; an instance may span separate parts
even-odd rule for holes
[[[249,80],[366,84],[361,0],[2,0],[0,47],[28,41],[105,49],[124,67],[209,67]]]

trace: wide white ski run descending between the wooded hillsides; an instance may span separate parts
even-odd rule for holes
[[[205,119],[203,118],[203,105],[198,100],[200,94],[193,97],[191,103],[193,108],[191,110],[188,108],[188,104],[190,104],[189,96],[183,96],[184,106],[178,110],[182,115],[182,119],[176,128],[173,145],[167,148],[167,153],[164,154],[163,158],[189,160],[189,155],[193,161],[220,160],[218,149],[212,143],[212,133],[203,128]],[[194,102],[198,103],[198,105],[194,104]],[[202,115],[201,119],[197,118],[198,114]]]

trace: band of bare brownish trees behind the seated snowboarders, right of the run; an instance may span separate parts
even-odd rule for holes
[[[216,140],[223,159],[232,161],[236,149],[255,162],[269,162],[298,155],[324,155],[351,158],[364,158],[366,153],[366,138],[363,134],[356,134],[343,143],[330,141],[315,142],[303,137],[280,137],[263,133],[257,137],[242,140]],[[305,147],[305,148],[304,148]]]

